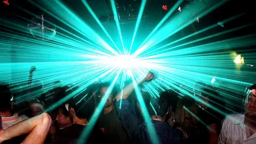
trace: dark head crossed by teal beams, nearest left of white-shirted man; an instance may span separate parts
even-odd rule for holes
[[[225,105],[221,95],[211,87],[204,88],[201,91],[200,99],[201,100],[199,101],[199,105],[201,108],[204,108],[204,109],[209,107],[205,105],[205,103],[217,108],[221,108],[221,106]]]

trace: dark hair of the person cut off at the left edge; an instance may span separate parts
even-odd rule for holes
[[[0,111],[8,111],[12,108],[12,91],[9,85],[0,85]]]

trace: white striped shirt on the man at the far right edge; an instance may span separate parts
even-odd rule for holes
[[[256,143],[256,133],[247,138],[244,117],[244,114],[233,114],[224,119],[218,144]]]

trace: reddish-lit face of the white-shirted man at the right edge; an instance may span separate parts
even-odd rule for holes
[[[256,118],[256,90],[249,91],[245,100],[245,115]]]

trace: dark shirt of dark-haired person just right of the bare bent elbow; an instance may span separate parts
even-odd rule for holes
[[[73,124],[65,129],[61,129],[54,134],[53,143],[77,143],[79,140],[83,130],[86,126]],[[100,129],[93,129],[86,143],[94,144],[94,143],[102,143],[104,142],[103,133]]]

